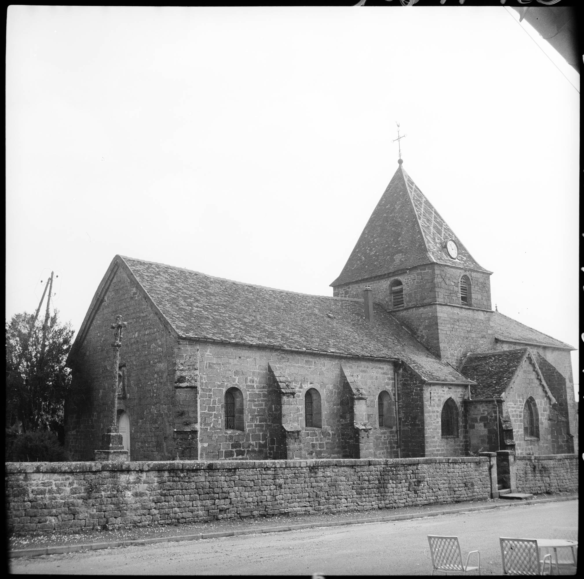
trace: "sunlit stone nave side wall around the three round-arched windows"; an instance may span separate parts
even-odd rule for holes
[[[352,426],[349,390],[341,364],[367,395],[367,417],[379,430],[377,396],[393,388],[391,362],[354,360],[271,348],[200,343],[199,458],[279,459],[283,444],[281,396],[269,379],[268,364],[290,380],[294,396],[290,417],[298,420],[298,444],[305,458],[352,458],[357,433]],[[244,430],[225,429],[225,392],[235,386],[244,399]],[[304,399],[308,389],[321,396],[322,426],[304,424]],[[387,433],[373,435],[376,456],[395,456],[395,440]]]

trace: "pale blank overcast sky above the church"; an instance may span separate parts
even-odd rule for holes
[[[398,121],[404,168],[494,272],[493,309],[578,347],[579,76],[518,20],[10,6],[6,319],[55,270],[78,330],[116,254],[332,295]]]

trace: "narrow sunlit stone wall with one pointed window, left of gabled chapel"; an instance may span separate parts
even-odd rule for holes
[[[426,456],[466,456],[468,437],[466,420],[463,412],[463,400],[468,398],[467,386],[427,385],[423,389],[424,435]],[[442,437],[442,408],[449,398],[453,399],[458,408],[458,435]]]

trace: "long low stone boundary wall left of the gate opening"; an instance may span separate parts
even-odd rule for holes
[[[488,458],[6,463],[10,533],[489,498]]]

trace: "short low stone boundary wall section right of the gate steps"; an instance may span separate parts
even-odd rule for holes
[[[521,493],[578,492],[578,455],[516,456],[515,477]]]

